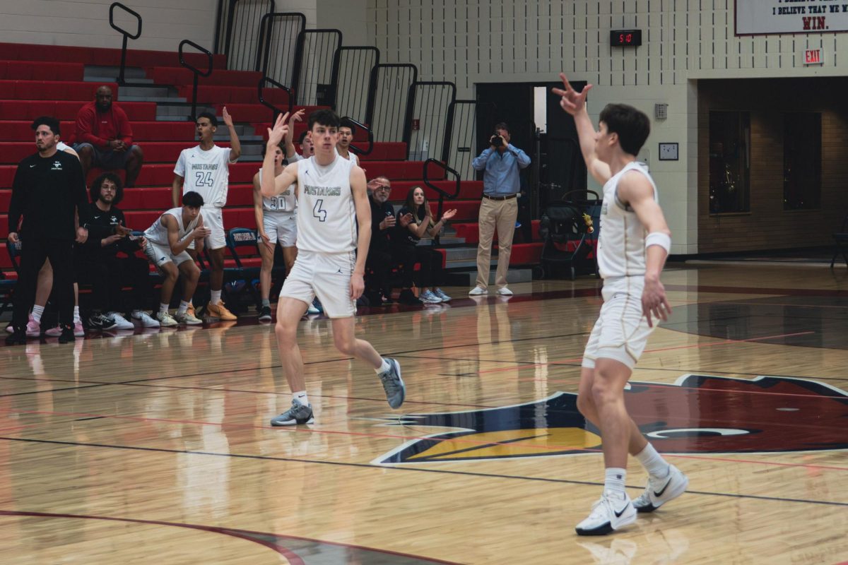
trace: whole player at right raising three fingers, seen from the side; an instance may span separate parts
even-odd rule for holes
[[[583,353],[577,394],[577,408],[600,429],[606,469],[600,500],[577,524],[577,534],[604,535],[633,523],[637,512],[653,512],[689,485],[686,475],[645,440],[624,405],[624,387],[654,322],[672,311],[660,282],[672,240],[654,180],[636,161],[650,133],[648,116],[625,104],[609,104],[596,132],[586,111],[592,86],[577,92],[566,75],[560,78],[563,88],[554,93],[574,117],[586,168],[604,186],[598,242],[604,305]],[[648,485],[635,501],[624,490],[628,452],[648,472]]]

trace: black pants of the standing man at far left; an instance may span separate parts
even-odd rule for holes
[[[74,324],[74,241],[21,238],[20,273],[14,286],[12,325],[24,328],[36,300],[38,271],[44,260],[53,267],[53,297],[59,308],[59,324]]]

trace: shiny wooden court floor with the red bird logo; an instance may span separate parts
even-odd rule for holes
[[[0,347],[0,562],[846,562],[845,269],[663,281],[628,407],[690,491],[614,535],[573,530],[603,479],[574,403],[583,278],[361,316],[402,365],[398,411],[304,321],[315,424],[291,429],[268,424],[290,403],[271,325]]]

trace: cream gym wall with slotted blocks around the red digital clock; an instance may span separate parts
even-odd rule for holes
[[[672,253],[705,251],[713,235],[699,236],[697,80],[848,75],[848,57],[838,56],[848,35],[736,37],[734,0],[369,0],[368,12],[385,62],[417,64],[420,80],[453,80],[459,97],[473,97],[477,82],[555,80],[562,69],[595,86],[594,119],[607,102],[650,116],[667,103],[639,157],[660,187]],[[629,28],[642,30],[642,47],[609,46],[610,30]],[[802,64],[807,47],[823,48],[822,66]],[[660,141],[679,143],[678,161],[656,158]]]

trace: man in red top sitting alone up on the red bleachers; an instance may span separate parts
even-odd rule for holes
[[[126,169],[125,186],[136,185],[142,170],[142,148],[132,144],[132,128],[124,110],[112,103],[112,89],[98,88],[94,102],[88,102],[76,114],[76,144],[82,172],[87,176],[93,166]]]

